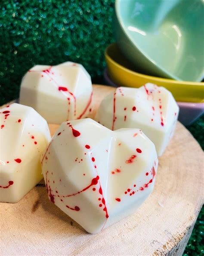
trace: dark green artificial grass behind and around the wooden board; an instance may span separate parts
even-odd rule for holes
[[[35,64],[83,64],[102,83],[104,49],[114,42],[114,0],[1,0],[0,105],[18,98],[23,74]],[[189,130],[204,148],[204,118]],[[204,210],[185,255],[203,255]]]

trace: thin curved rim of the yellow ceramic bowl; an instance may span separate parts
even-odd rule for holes
[[[117,1],[117,0],[116,0]],[[117,63],[116,61],[114,61],[110,55],[108,54],[108,51],[110,50],[111,47],[114,47],[116,46],[117,43],[114,42],[110,45],[108,45],[106,48],[105,48],[105,57],[109,59],[109,61],[111,61],[112,63],[114,63],[114,65],[116,65],[117,67],[123,69],[124,71],[128,72],[128,73],[131,73],[131,74],[134,74],[134,75],[137,75],[137,76],[140,76],[140,77],[143,77],[143,78],[151,78],[151,79],[154,79],[154,80],[158,80],[160,82],[164,81],[166,83],[173,83],[173,84],[182,84],[182,85],[195,85],[195,86],[204,86],[204,82],[190,82],[190,81],[181,81],[181,80],[174,80],[174,79],[169,79],[169,78],[163,78],[163,77],[153,77],[153,76],[150,76],[150,75],[146,75],[146,74],[142,74],[142,73],[138,73],[136,71],[133,71],[127,67],[124,67],[122,66],[121,64]]]

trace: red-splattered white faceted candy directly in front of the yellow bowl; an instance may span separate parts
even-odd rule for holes
[[[173,136],[178,113],[167,89],[147,83],[138,89],[118,87],[103,99],[94,119],[112,130],[140,128],[161,156]]]

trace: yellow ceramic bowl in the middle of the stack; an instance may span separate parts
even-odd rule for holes
[[[116,43],[105,49],[105,61],[109,77],[118,86],[137,88],[145,83],[155,83],[170,90],[176,101],[204,102],[204,83],[177,81],[137,73],[133,71],[133,65],[121,54]]]

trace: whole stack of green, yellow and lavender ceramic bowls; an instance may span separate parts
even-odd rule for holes
[[[105,80],[116,86],[164,86],[180,107],[179,120],[204,112],[202,0],[116,0],[116,43],[105,50]]]

